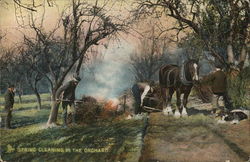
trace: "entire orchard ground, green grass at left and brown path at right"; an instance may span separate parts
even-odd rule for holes
[[[1,116],[4,115],[3,101],[0,97]],[[213,117],[201,114],[207,107],[196,101],[194,96],[190,97],[188,113],[192,115],[188,118],[175,119],[152,113],[149,120],[145,117],[142,120],[112,117],[88,125],[47,128],[49,94],[42,95],[41,110],[36,108],[35,96],[23,96],[23,103],[14,105],[14,129],[0,129],[1,157],[13,162],[113,162],[138,161],[140,158],[154,160],[156,157],[175,161],[178,153],[180,160],[190,161],[185,158],[192,156],[193,160],[199,161],[199,151],[203,150],[201,154],[207,161],[216,159],[212,156],[215,154],[221,158],[219,161],[229,157],[225,155],[232,155],[231,158],[238,161],[247,159],[250,121],[234,126],[218,125]],[[59,125],[62,124],[61,114],[59,108]]]

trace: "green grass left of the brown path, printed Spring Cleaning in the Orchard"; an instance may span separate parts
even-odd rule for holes
[[[0,129],[1,157],[6,161],[119,161],[139,159],[144,120],[109,119],[91,125],[47,128],[49,95],[42,95],[42,109],[35,96],[15,103],[11,125]],[[3,98],[0,98],[3,103]],[[16,101],[18,101],[16,99]],[[1,106],[1,110],[3,106]],[[4,114],[1,111],[1,116]],[[59,109],[58,124],[62,124]]]

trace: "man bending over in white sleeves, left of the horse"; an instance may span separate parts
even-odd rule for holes
[[[149,92],[153,92],[152,84],[147,82],[138,82],[132,86],[132,93],[135,99],[134,114],[140,114],[142,112],[144,98]]]

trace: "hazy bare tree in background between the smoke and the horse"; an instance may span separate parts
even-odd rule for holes
[[[153,25],[140,40],[139,50],[130,56],[132,71],[137,81],[153,80],[158,69],[164,64],[165,41],[155,32]]]

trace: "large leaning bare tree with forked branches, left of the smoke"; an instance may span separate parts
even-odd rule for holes
[[[72,0],[72,8],[63,13],[58,26],[45,32],[42,26],[36,25],[32,15],[30,27],[36,33],[37,43],[40,45],[44,61],[43,68],[48,70],[45,75],[51,84],[52,108],[47,124],[54,124],[57,120],[59,103],[56,101],[57,90],[62,86],[65,78],[74,73],[79,75],[86,53],[93,46],[101,45],[101,41],[117,37],[125,31],[128,20],[121,20],[108,13],[109,4],[94,4],[86,1]],[[56,36],[57,29],[63,27],[63,36]]]

